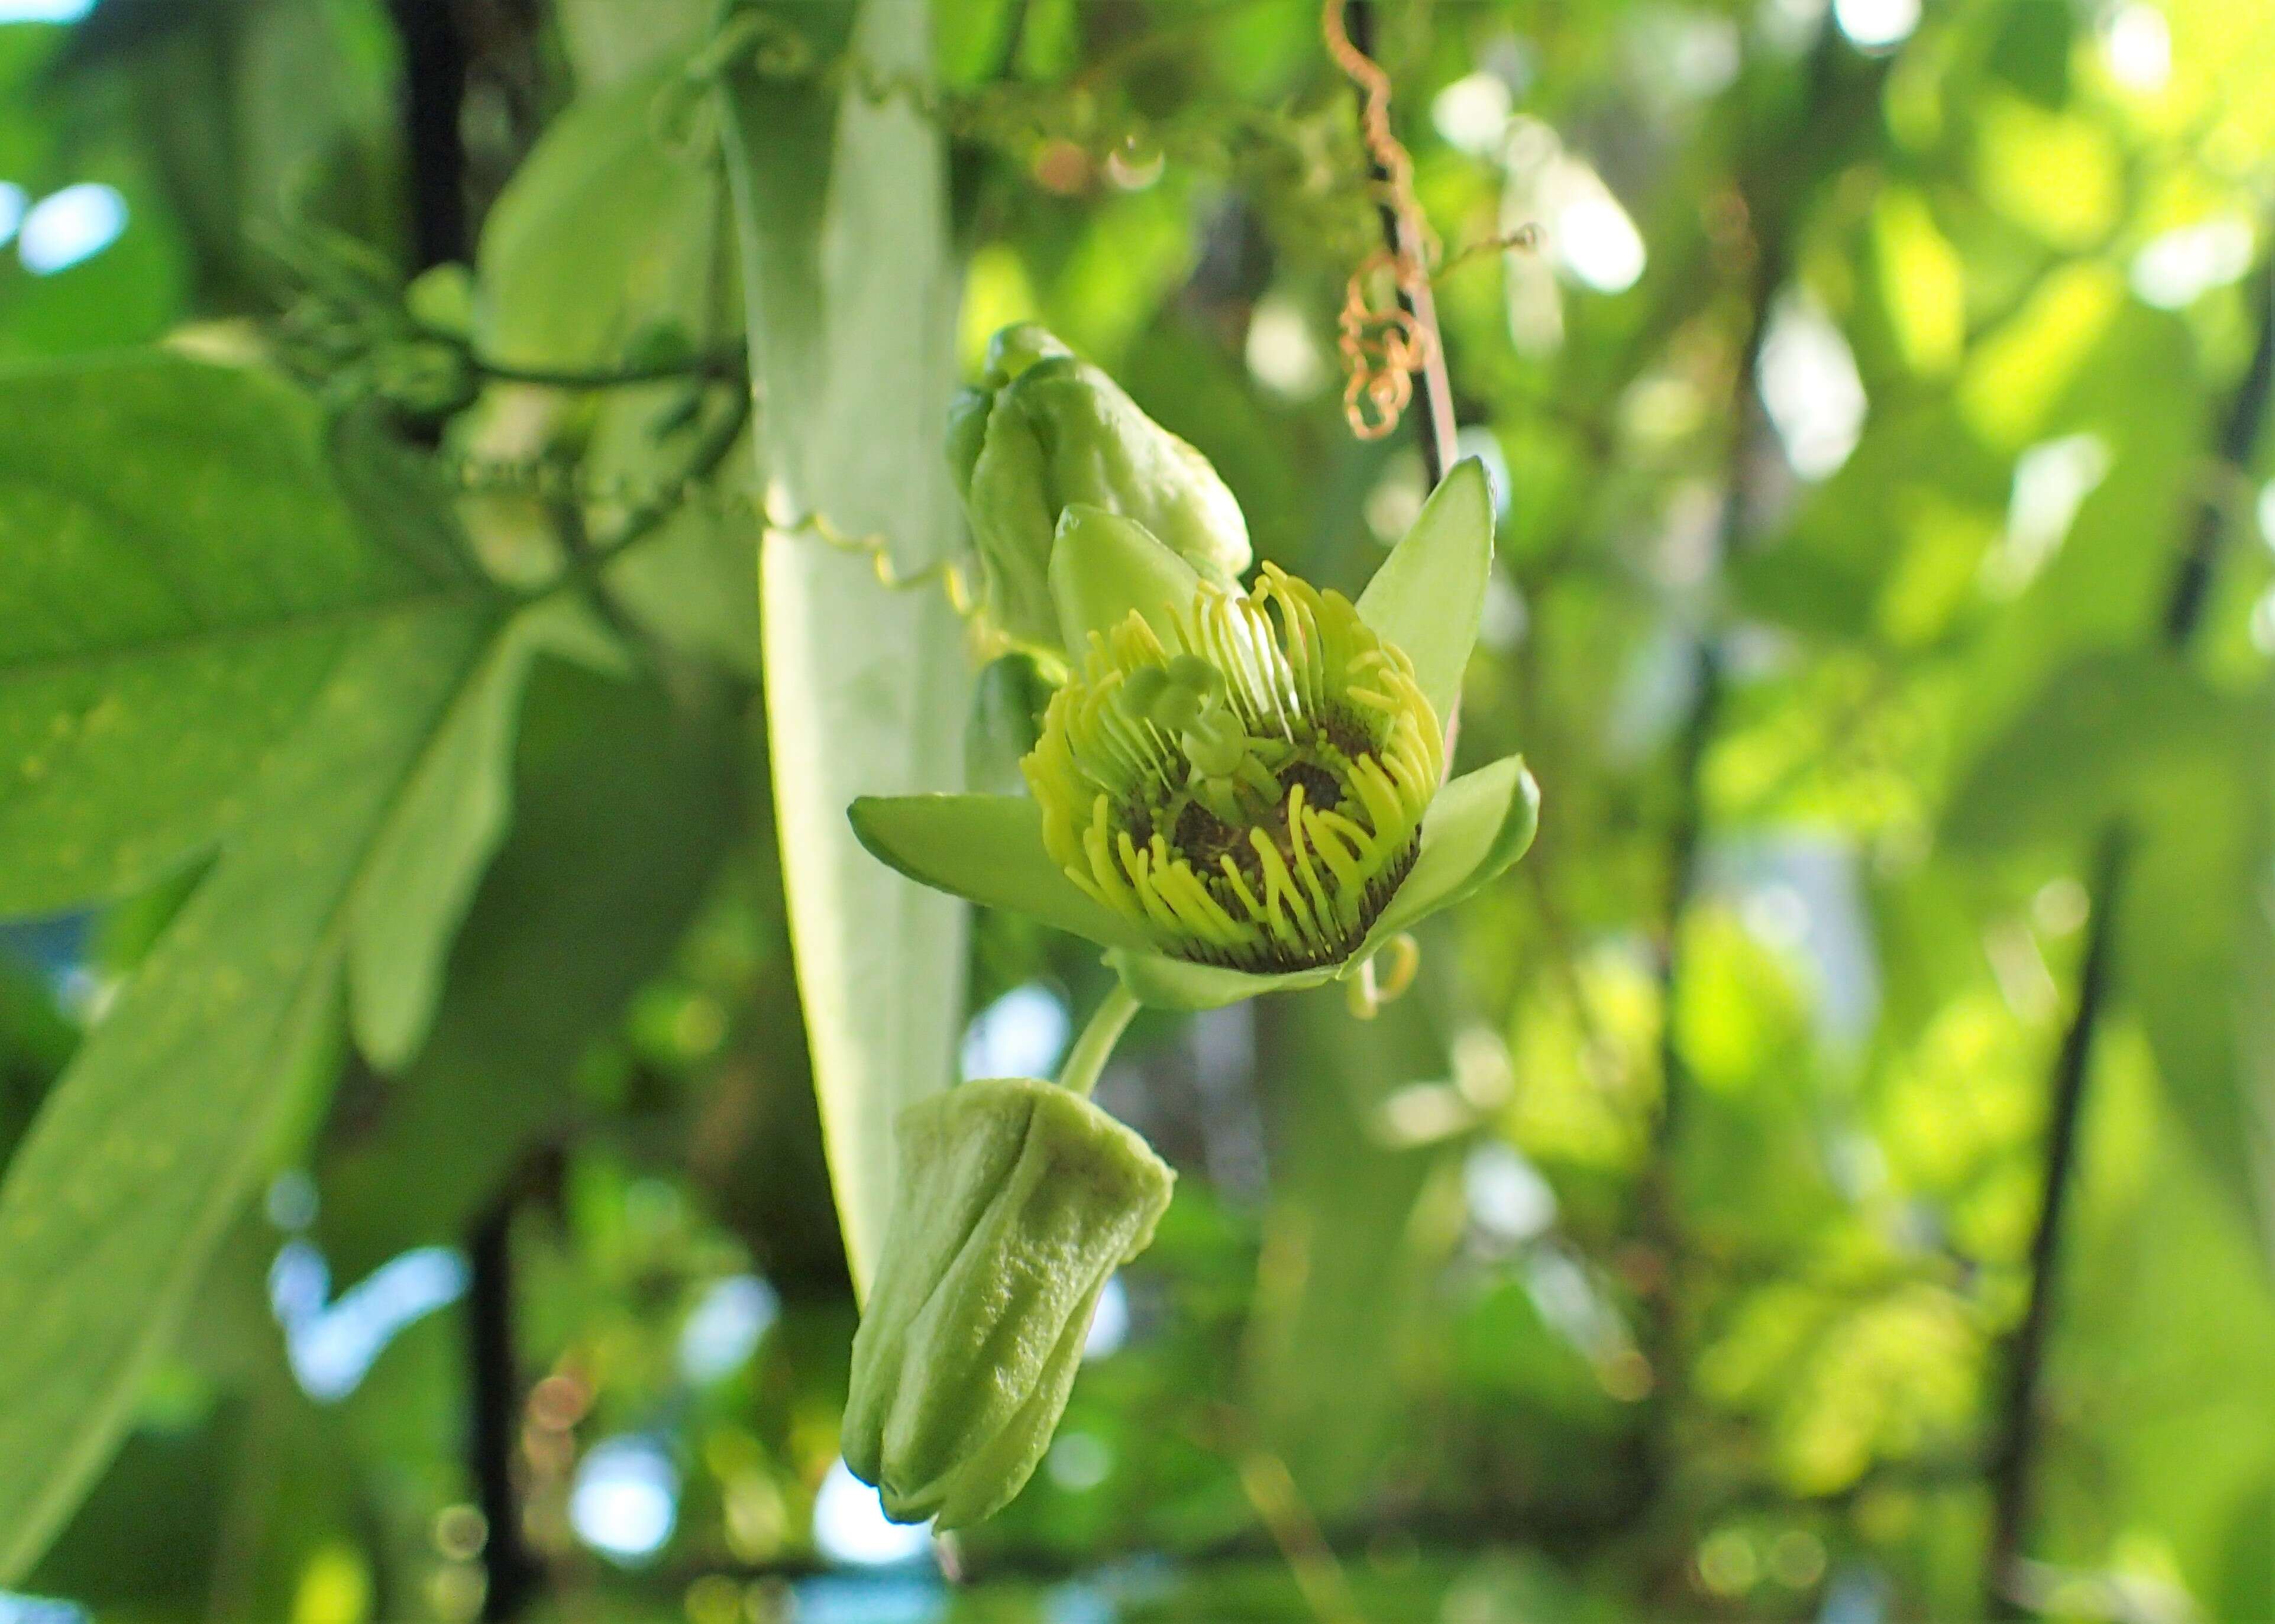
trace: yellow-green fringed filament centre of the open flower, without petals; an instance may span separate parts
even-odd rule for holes
[[[1051,857],[1163,953],[1247,971],[1347,958],[1413,864],[1438,716],[1340,594],[1272,569],[1167,635],[1094,637],[1026,776]]]

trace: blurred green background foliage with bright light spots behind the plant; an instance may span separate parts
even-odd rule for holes
[[[958,1585],[837,1463],[760,525],[687,368],[742,339],[712,11],[0,0],[11,364],[266,357],[510,582],[664,487],[592,571],[646,655],[530,676],[430,1037],[323,1062],[0,1619],[2275,1615],[2275,11],[1376,9],[1502,500],[1461,744],[1540,839],[1374,1024],[1133,1028],[1176,1205]],[[1424,466],[1345,425],[1317,5],[933,0],[930,89],[835,11],[783,9],[814,71],[949,139],[965,373],[1040,316],[1356,589]],[[7,928],[0,1158],[184,887]],[[1101,987],[976,919],[965,1074]]]

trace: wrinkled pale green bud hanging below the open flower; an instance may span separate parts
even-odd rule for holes
[[[917,1101],[899,1144],[844,1456],[894,1522],[960,1528],[1035,1472],[1099,1292],[1153,1240],[1174,1174],[1087,1099],[1033,1078]]]

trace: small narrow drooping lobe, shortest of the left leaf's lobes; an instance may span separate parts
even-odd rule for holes
[[[573,598],[514,616],[450,703],[371,853],[348,930],[355,1042],[380,1071],[425,1037],[450,939],[512,817],[514,721],[541,651],[607,662],[607,635]]]

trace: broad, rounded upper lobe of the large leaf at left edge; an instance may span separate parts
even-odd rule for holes
[[[209,846],[359,625],[482,594],[362,525],[314,407],[257,373],[16,373],[0,421],[0,914]]]

